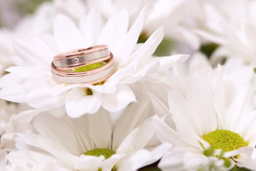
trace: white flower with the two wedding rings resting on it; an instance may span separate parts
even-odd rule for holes
[[[58,15],[53,25],[53,37],[47,35],[15,42],[22,62],[6,69],[10,73],[0,80],[3,87],[0,98],[25,102],[36,108],[36,112],[66,107],[70,117],[95,113],[101,106],[111,112],[127,107],[136,101],[129,84],[136,83],[147,73],[164,70],[188,58],[188,55],[152,57],[163,39],[162,27],[145,43],[137,45],[143,16],[144,10],[127,31],[129,17],[125,10],[114,15],[103,28],[95,10],[80,21],[80,29],[68,17]],[[50,70],[53,56],[96,44],[107,44],[116,61],[116,72],[104,84],[58,85],[53,81]],[[93,93],[88,93],[88,89]]]

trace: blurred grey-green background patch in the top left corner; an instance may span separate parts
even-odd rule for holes
[[[51,0],[0,0],[0,27],[14,28],[21,18],[33,14],[44,1]]]

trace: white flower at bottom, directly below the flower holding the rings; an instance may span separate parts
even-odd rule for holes
[[[152,121],[147,119],[151,115],[149,99],[127,107],[115,125],[104,109],[79,119],[43,113],[34,118],[39,133],[18,134],[20,151],[7,158],[16,166],[32,159],[65,171],[136,171],[158,161],[171,147],[154,139]]]

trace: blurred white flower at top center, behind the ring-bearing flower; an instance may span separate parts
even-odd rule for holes
[[[199,38],[182,24],[186,14],[186,0],[88,0],[87,3],[97,7],[107,19],[117,10],[127,9],[131,21],[147,5],[143,36],[151,35],[163,25],[165,37],[187,43],[193,49],[200,46]]]

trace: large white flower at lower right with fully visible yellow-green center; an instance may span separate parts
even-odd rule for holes
[[[233,82],[222,72],[211,79],[208,74],[175,78],[176,85],[168,93],[171,114],[165,122],[154,117],[160,141],[173,144],[159,163],[163,171],[228,171],[234,165],[256,168],[254,91],[250,79],[241,79],[240,86],[234,83],[240,82],[240,74],[252,78],[253,71],[233,73]]]

